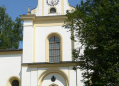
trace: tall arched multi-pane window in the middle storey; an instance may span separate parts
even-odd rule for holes
[[[60,62],[60,40],[55,36],[49,40],[49,62]]]

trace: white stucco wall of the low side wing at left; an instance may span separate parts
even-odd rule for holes
[[[22,54],[0,55],[0,86],[7,86],[11,77],[21,76]]]

